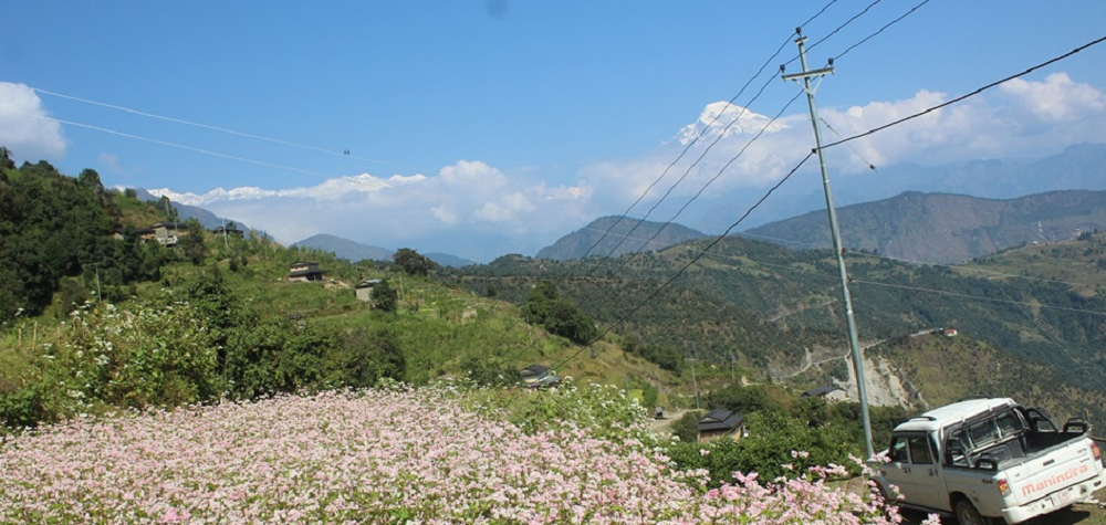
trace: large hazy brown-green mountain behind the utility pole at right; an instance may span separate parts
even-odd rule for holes
[[[841,208],[838,219],[848,249],[943,264],[1106,229],[1106,191],[1053,191],[1010,200],[911,191]],[[830,246],[823,211],[745,233],[795,248]]]

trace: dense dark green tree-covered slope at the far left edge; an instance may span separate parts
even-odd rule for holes
[[[45,161],[17,169],[7,149],[0,161],[0,323],[42,313],[55,293],[70,309],[160,279],[171,254],[134,234],[166,219],[155,207],[105,190],[91,169],[76,178]]]

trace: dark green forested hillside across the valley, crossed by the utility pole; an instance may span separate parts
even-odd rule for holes
[[[1072,242],[1097,253],[1104,241],[1088,233]],[[800,368],[806,351],[828,356],[847,348],[831,253],[728,238],[664,286],[706,245],[695,241],[651,254],[568,263],[510,256],[457,271],[453,279],[473,292],[511,298],[536,280],[552,279],[601,324],[617,324],[625,334],[686,357],[720,366],[735,359],[765,379]],[[957,327],[1047,365],[1074,386],[1106,390],[1100,295],[1018,273],[967,273],[859,252],[847,259],[862,342]]]

